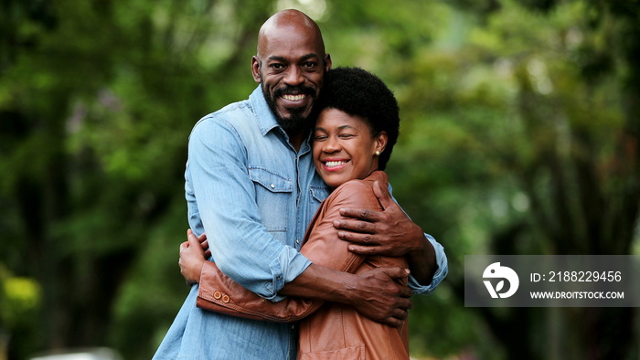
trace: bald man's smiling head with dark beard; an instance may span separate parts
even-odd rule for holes
[[[297,10],[283,10],[260,28],[253,79],[286,132],[302,132],[320,93],[331,57],[315,22]]]

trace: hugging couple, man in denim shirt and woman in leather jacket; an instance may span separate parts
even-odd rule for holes
[[[269,18],[257,50],[260,87],[189,137],[180,268],[198,284],[154,358],[408,359],[410,296],[447,260],[389,195],[397,101],[331,69],[299,11]]]

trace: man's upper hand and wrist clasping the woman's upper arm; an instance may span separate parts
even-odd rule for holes
[[[373,192],[383,211],[341,208],[340,215],[351,220],[336,220],[337,236],[353,244],[349,250],[361,255],[407,256],[413,277],[430,283],[436,270],[435,250],[422,229],[402,211],[377,181]]]

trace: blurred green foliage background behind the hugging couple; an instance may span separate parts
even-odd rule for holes
[[[635,308],[465,308],[464,255],[639,254],[637,0],[0,0],[0,359],[148,359],[187,295],[197,120],[295,7],[400,101],[394,195],[450,275],[416,359],[638,359]],[[203,334],[206,341],[206,334]]]

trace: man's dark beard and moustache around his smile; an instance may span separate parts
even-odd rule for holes
[[[269,91],[264,89],[264,83],[261,82],[260,85],[262,93],[264,94],[264,99],[267,101],[267,105],[269,105],[269,109],[272,111],[273,116],[275,116],[275,120],[285,132],[305,132],[311,128],[313,124],[311,111],[309,111],[309,114],[304,115],[304,111],[306,111],[304,107],[284,108],[289,111],[290,116],[289,118],[283,118],[280,112],[278,112],[275,99],[283,96],[284,94],[305,94],[307,96],[311,96],[315,101],[314,89],[305,86],[286,87],[274,90],[272,95]]]

